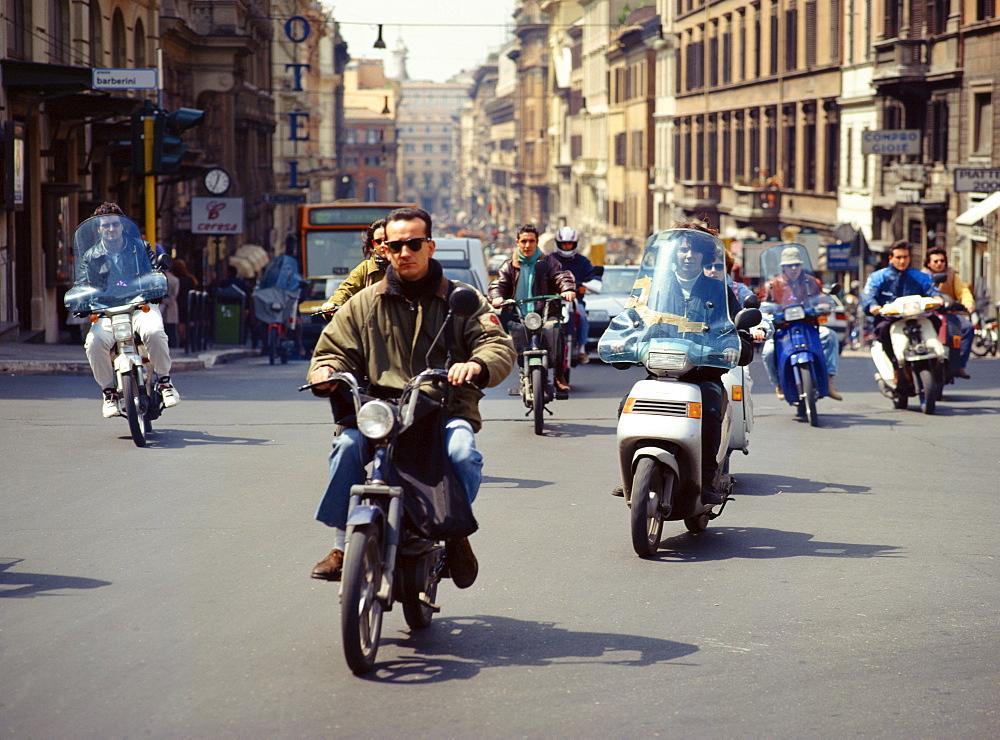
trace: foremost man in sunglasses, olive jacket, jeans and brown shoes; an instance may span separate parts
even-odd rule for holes
[[[444,362],[448,350],[434,338],[448,312],[453,283],[431,257],[431,217],[420,208],[399,208],[386,223],[389,267],[385,279],[357,293],[334,314],[323,330],[309,382],[321,383],[334,372],[367,378],[373,396],[397,395],[411,377],[424,369],[424,358]],[[514,365],[516,353],[485,298],[471,316],[453,318],[455,342],[448,368],[454,386],[446,425],[447,454],[471,502],[479,491],[482,454],[476,450],[474,432],[482,426],[478,388],[503,382]],[[433,345],[433,346],[432,346]],[[476,388],[465,385],[471,382]],[[313,390],[330,395],[330,385]],[[365,464],[373,451],[357,429],[344,429],[333,440],[330,481],[316,512],[316,519],[334,529],[334,549],[312,571],[313,578],[339,581],[344,562],[344,540],[351,486],[363,483]],[[450,540],[447,558],[452,579],[459,588],[472,585],[478,573],[476,556],[468,538]]]

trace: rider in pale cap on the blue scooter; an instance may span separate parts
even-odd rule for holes
[[[826,310],[832,307],[830,299],[823,293],[823,285],[820,281],[806,273],[802,269],[802,257],[796,247],[787,247],[781,252],[781,274],[764,283],[760,299],[764,302],[777,303],[780,306],[787,306],[792,303],[799,303],[809,298],[817,300],[819,307],[823,306],[823,299],[826,299]],[[823,357],[826,360],[826,372],[829,375],[829,390],[827,396],[834,401],[842,401],[844,397],[840,395],[833,386],[833,378],[837,374],[837,362],[840,357],[840,341],[837,335],[826,326],[819,327],[819,339],[823,345]],[[764,343],[761,350],[761,358],[764,360],[764,369],[767,370],[767,377],[774,384],[774,392],[781,400],[785,400],[781,392],[781,384],[778,382],[778,366],[774,359],[774,340]]]

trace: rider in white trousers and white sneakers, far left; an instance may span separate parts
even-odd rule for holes
[[[153,265],[157,264],[156,252],[148,242],[138,237],[125,236],[119,218],[124,215],[125,212],[117,203],[102,203],[94,210],[94,216],[98,217],[100,240],[87,250],[83,260],[77,265],[77,285],[91,285],[101,292],[113,293],[116,288],[127,290],[130,281],[153,272]],[[170,348],[160,307],[150,305],[149,311],[136,311],[132,315],[132,327],[146,345],[153,372],[159,376],[163,405],[167,408],[176,406],[181,397],[170,380]],[[111,365],[111,348],[114,344],[111,319],[104,318],[90,325],[90,332],[83,345],[94,380],[103,389],[101,416],[105,419],[120,415],[115,371]]]

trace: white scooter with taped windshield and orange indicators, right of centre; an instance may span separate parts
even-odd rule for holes
[[[730,288],[704,275],[681,276],[678,252],[692,245],[716,255],[722,243],[692,229],[670,229],[646,242],[632,295],[598,344],[601,359],[625,369],[643,365],[649,376],[629,392],[618,419],[618,456],[625,501],[631,509],[632,545],[640,557],[654,555],[664,520],[683,519],[692,532],[718,516],[701,503],[702,395],[689,379],[695,368],[718,368],[723,403],[718,473],[713,484],[728,498],[732,490],[729,455],[747,450],[753,424],[749,373],[738,367],[742,344],[737,327],[749,329],[760,311],[729,315]],[[714,257],[713,257],[714,258]],[[723,503],[723,507],[725,503]]]

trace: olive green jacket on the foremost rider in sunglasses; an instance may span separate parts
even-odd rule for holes
[[[433,296],[412,302],[393,293],[385,280],[355,294],[320,334],[309,375],[318,367],[330,367],[350,372],[359,381],[367,377],[372,395],[397,395],[406,381],[428,365],[427,352],[448,312],[451,282],[442,278]],[[455,286],[475,291],[458,281]],[[454,317],[451,353],[454,362],[472,360],[483,367],[475,379],[480,388],[502,383],[517,360],[510,336],[482,295],[475,313]],[[443,368],[446,357],[442,339],[431,352],[430,365]],[[326,391],[314,390],[314,393],[329,395]],[[449,415],[468,420],[479,431],[482,397],[478,388],[452,388]]]

